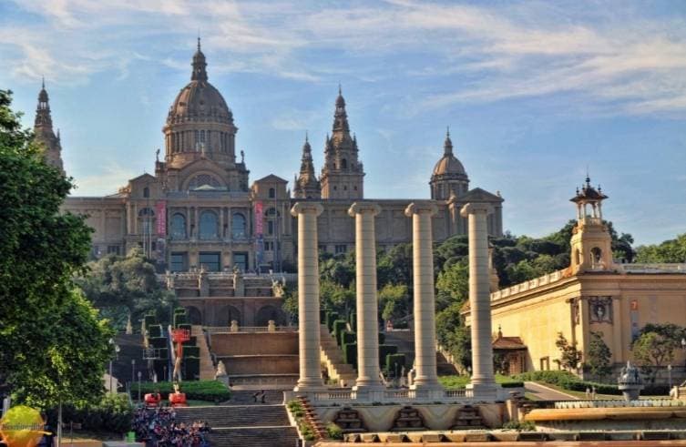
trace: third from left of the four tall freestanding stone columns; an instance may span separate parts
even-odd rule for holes
[[[411,203],[404,210],[412,217],[413,283],[415,288],[415,381],[414,390],[440,391],[435,364],[434,253],[431,217],[436,206]]]

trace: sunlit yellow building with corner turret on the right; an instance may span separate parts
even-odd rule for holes
[[[581,351],[589,352],[591,332],[599,332],[619,368],[632,361],[631,342],[649,323],[686,326],[686,264],[619,264],[612,259],[611,237],[603,222],[600,188],[589,178],[571,198],[577,225],[571,238],[567,269],[491,293],[494,347],[509,336],[509,371],[558,370],[558,333]],[[470,324],[470,310],[463,310]],[[677,352],[674,366],[686,352]],[[676,371],[675,371],[676,373]]]

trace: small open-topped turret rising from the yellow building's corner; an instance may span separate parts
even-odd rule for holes
[[[602,201],[608,196],[590,186],[590,178],[569,200],[577,204],[577,225],[571,238],[571,273],[615,269],[612,238],[602,219]]]

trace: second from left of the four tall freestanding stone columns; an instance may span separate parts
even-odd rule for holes
[[[357,381],[353,390],[378,391],[379,319],[376,298],[376,239],[374,218],[381,212],[375,203],[355,202],[348,215],[355,218]]]

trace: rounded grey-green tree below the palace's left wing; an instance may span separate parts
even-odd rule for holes
[[[155,266],[138,248],[126,257],[108,255],[90,262],[77,284],[118,329],[126,326],[128,315],[138,321],[154,312],[159,321],[169,321],[169,309],[177,303],[173,292],[162,288]]]

